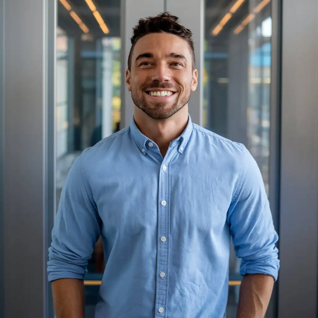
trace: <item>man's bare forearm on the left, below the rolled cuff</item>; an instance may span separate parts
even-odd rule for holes
[[[83,280],[64,278],[52,281],[56,318],[84,318],[85,289]]]

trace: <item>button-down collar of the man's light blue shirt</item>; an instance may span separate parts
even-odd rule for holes
[[[188,141],[189,141],[189,139],[190,139],[192,130],[193,130],[193,125],[192,125],[191,117],[188,114],[187,127],[184,129],[184,131],[183,131],[181,136],[177,137],[175,140],[170,142],[169,147],[174,146],[175,144],[177,144],[178,145],[178,151],[182,154],[184,149],[185,149],[185,147],[186,147],[186,145],[187,145],[187,143],[188,143]],[[132,137],[133,137],[136,145],[138,146],[138,148],[140,149],[142,154],[145,155],[146,154],[146,148],[147,148],[146,144],[149,144],[149,142],[152,142],[153,144],[155,144],[155,142],[150,140],[144,134],[142,134],[142,132],[136,126],[134,116],[132,117],[132,119],[130,121],[130,131],[131,131]]]

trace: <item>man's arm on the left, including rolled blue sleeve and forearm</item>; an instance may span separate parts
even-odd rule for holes
[[[100,237],[101,220],[85,183],[81,156],[74,161],[63,186],[49,248],[47,271],[57,318],[84,317],[83,279]]]

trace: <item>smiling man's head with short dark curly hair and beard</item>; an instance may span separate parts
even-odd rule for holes
[[[192,33],[168,12],[140,19],[133,31],[128,90],[149,117],[167,119],[188,103],[197,88]]]

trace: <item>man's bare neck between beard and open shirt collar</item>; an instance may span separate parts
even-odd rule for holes
[[[185,105],[176,114],[165,120],[152,119],[135,106],[134,119],[138,129],[142,134],[156,142],[162,157],[164,157],[170,142],[179,137],[187,126],[188,105]]]

